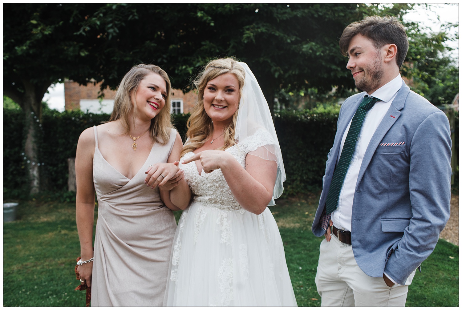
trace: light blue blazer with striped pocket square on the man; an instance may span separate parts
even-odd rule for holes
[[[343,103],[312,231],[319,225],[342,136],[365,92]],[[401,143],[404,142],[404,143]],[[398,144],[386,146],[386,144]],[[403,284],[435,248],[450,214],[451,139],[446,115],[404,83],[378,126],[359,170],[352,246],[371,277]]]

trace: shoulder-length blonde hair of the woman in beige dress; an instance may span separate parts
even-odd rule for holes
[[[109,122],[120,119],[125,129],[123,134],[130,132],[129,117],[133,115],[133,118],[135,118],[137,111],[136,104],[132,103],[131,96],[136,94],[141,80],[149,73],[157,73],[165,80],[165,84],[167,85],[167,97],[165,97],[164,108],[151,120],[151,126],[149,127],[152,143],[158,142],[165,145],[170,138],[170,129],[173,128],[170,115],[171,84],[167,73],[156,65],[139,64],[132,67],[125,74],[117,88],[114,109],[112,110]]]

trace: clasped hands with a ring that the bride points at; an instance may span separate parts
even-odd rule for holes
[[[158,163],[149,166],[145,183],[151,188],[158,186],[163,190],[171,190],[179,184],[184,176],[184,171],[178,168],[179,162],[172,164]]]

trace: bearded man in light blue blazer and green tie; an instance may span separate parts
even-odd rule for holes
[[[316,273],[322,306],[404,306],[449,219],[449,122],[401,79],[407,49],[392,17],[367,17],[340,37],[363,92],[340,109],[312,226],[326,237]]]

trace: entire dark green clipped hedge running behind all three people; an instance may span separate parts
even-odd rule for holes
[[[338,112],[339,107],[321,106],[312,110],[284,110],[276,113],[274,124],[287,176],[284,195],[321,189],[327,154],[334,141]],[[188,116],[174,115],[173,119],[183,141]],[[39,144],[39,156],[43,191],[67,191],[67,158],[75,157],[80,133],[108,119],[107,114],[44,110],[42,132],[37,139],[42,141]],[[27,158],[23,148],[24,112],[20,109],[4,109],[3,120],[4,197],[24,198],[24,194],[29,192],[25,170]],[[458,120],[456,113],[457,144]]]

